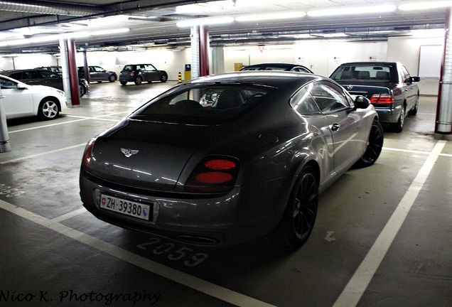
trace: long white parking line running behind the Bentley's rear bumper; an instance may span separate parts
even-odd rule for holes
[[[159,264],[158,262],[154,262],[145,257],[141,257],[137,254],[134,254],[133,252],[127,251],[126,249],[122,249],[121,247],[117,247],[113,244],[104,242],[101,239],[97,239],[83,232],[62,225],[58,222],[55,222],[55,220],[49,220],[45,217],[42,217],[41,215],[36,215],[33,212],[16,207],[15,205],[12,205],[10,203],[6,203],[4,200],[0,200],[0,208],[3,208],[4,210],[14,213],[15,215],[23,217],[27,220],[30,220],[31,222],[36,222],[36,224],[46,227],[49,230],[58,232],[61,235],[75,239],[82,244],[92,247],[93,249],[97,249],[113,257],[117,257],[124,262],[139,266],[141,267],[141,269],[145,269],[146,271],[150,271],[151,273],[158,274],[166,279],[170,279],[178,284],[182,284],[183,286],[187,286],[188,288],[200,291],[201,293],[205,293],[221,301],[225,301],[227,303],[231,303],[235,306],[240,307],[273,306],[269,303],[258,301],[255,298],[250,298],[249,296],[245,296],[241,293],[223,288],[222,286],[217,286],[216,284],[212,284],[198,277],[191,276],[190,274],[177,271],[176,269],[171,269],[168,266],[164,266],[163,264]]]

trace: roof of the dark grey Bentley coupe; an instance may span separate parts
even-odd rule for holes
[[[314,75],[308,72],[289,72],[289,71],[238,71],[225,72],[218,75],[210,75],[199,77],[194,80],[185,82],[185,84],[198,84],[205,82],[230,82],[242,83],[249,85],[265,85],[273,87],[281,87],[283,85],[303,85],[313,80],[330,80],[321,75]],[[333,81],[334,82],[334,81]]]

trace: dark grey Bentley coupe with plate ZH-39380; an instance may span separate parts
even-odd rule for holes
[[[216,92],[213,103],[205,95]],[[191,244],[299,247],[319,191],[382,150],[377,112],[333,80],[233,72],[171,88],[91,139],[80,196],[100,220]]]

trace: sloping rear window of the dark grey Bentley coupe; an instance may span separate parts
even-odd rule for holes
[[[242,117],[274,91],[274,87],[217,83],[176,87],[145,104],[129,119],[171,124],[225,124]]]

